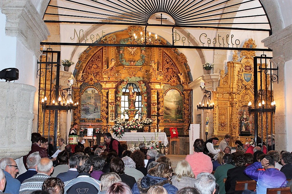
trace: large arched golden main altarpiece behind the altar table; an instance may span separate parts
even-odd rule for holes
[[[130,26],[107,35],[102,43],[130,44],[133,33],[142,31]],[[159,40],[159,44],[166,44]],[[191,108],[188,84],[192,77],[185,55],[177,49],[90,46],[79,56],[74,74],[77,83],[72,90],[79,106],[73,112],[73,122],[81,128],[91,125],[102,133],[109,131],[114,119],[123,113],[124,89],[129,89],[125,87],[131,83],[139,88],[135,95],[140,96],[141,117],[153,120],[151,129],[145,131],[169,133],[166,129],[177,127],[179,134],[188,134]],[[129,107],[129,118],[137,111]]]

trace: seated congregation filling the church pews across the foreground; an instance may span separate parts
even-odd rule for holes
[[[103,151],[95,147],[70,145],[60,139],[62,152],[51,158],[44,151],[48,141],[37,133],[32,134],[31,151],[24,158],[27,171],[17,176],[18,166],[8,157],[0,159],[0,192],[11,194],[262,194],[267,188],[291,185],[292,154],[270,150],[263,152],[253,147],[245,152],[237,140],[236,152],[231,154],[226,135],[220,148],[212,145],[218,138],[206,142],[194,141],[194,153],[179,161],[175,170],[171,160],[154,149],[131,152],[127,146]],[[41,147],[43,143],[45,146]],[[207,146],[208,144],[208,146]],[[211,144],[211,145],[210,145]],[[39,146],[39,147],[38,147]],[[223,146],[223,147],[222,147]],[[225,147],[224,147],[225,146]],[[226,149],[228,147],[228,149]],[[215,150],[215,151],[214,151]],[[217,151],[218,150],[218,151]],[[251,153],[252,152],[252,153]],[[237,191],[237,181],[256,181],[256,190]],[[289,181],[290,180],[290,181]]]

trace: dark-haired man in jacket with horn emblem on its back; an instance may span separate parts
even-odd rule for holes
[[[95,180],[90,176],[93,166],[89,156],[80,156],[77,162],[77,171],[79,174],[75,179],[66,181],[64,194],[79,194],[79,193],[99,193],[100,181]]]

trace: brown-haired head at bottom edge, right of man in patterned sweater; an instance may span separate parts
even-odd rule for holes
[[[41,189],[50,194],[64,194],[64,183],[59,178],[48,178]]]

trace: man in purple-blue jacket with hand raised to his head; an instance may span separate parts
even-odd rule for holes
[[[286,176],[275,168],[275,163],[273,156],[266,155],[260,162],[255,162],[246,167],[244,174],[257,181],[256,192],[244,190],[242,194],[266,194],[267,188],[286,187]],[[258,170],[263,167],[265,171]]]

